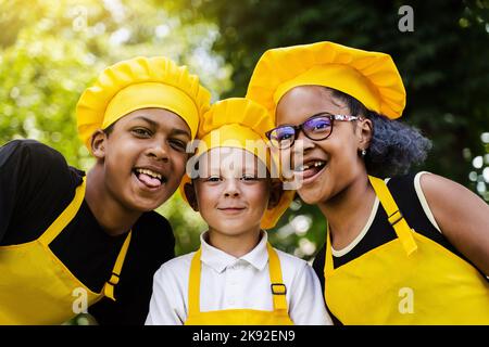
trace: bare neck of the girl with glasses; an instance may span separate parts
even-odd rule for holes
[[[371,215],[375,196],[365,175],[318,205],[328,221],[333,247],[344,248],[360,234]]]

